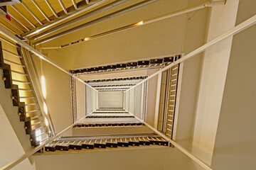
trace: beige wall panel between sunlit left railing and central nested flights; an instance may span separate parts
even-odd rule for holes
[[[39,77],[43,73],[46,79],[46,103],[48,105],[48,112],[53,121],[55,132],[60,132],[73,123],[70,76],[48,62],[41,61],[36,56],[33,56],[33,58],[38,68]],[[71,135],[71,130],[65,132],[65,135]]]

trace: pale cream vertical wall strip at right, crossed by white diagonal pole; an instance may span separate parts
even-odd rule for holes
[[[212,8],[207,41],[235,26],[237,9],[238,1]],[[231,44],[232,38],[223,40],[206,50],[203,57],[192,152],[207,164],[213,156]]]

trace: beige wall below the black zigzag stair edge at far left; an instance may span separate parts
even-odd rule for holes
[[[0,69],[0,77],[3,72]],[[5,89],[4,81],[0,80],[0,168],[14,161],[22,154],[30,151],[30,136],[26,135],[24,123],[19,120],[18,107],[13,106],[11,89]],[[28,159],[14,169],[35,169]]]

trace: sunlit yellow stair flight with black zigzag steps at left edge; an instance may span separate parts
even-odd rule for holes
[[[19,121],[23,122],[24,134],[29,135],[28,140],[35,147],[48,139],[49,128],[44,122],[21,47],[5,38],[1,38],[0,42],[0,69],[3,72],[1,78],[4,81],[4,87],[10,89],[9,98],[13,106],[17,107],[14,114]],[[14,122],[13,126],[15,124]],[[19,135],[21,134],[17,134]]]

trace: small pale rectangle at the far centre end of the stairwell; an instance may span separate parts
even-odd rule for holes
[[[123,108],[122,91],[100,91],[99,107],[100,108]]]

